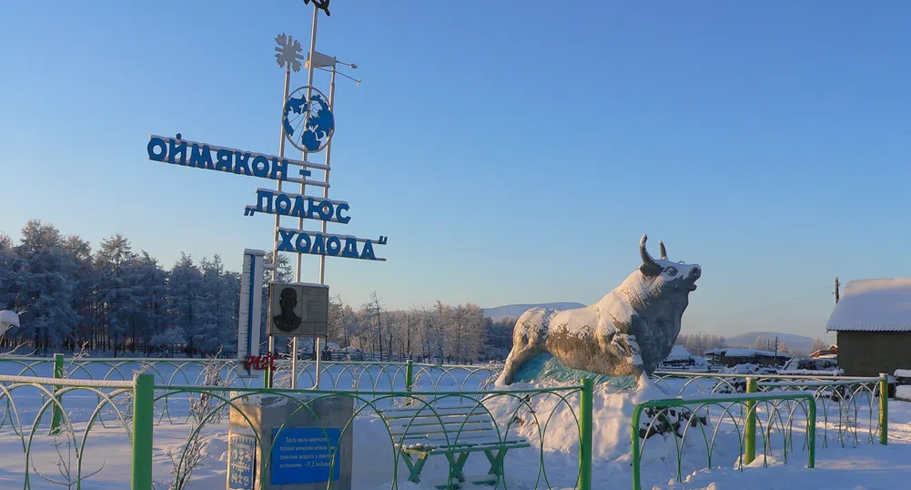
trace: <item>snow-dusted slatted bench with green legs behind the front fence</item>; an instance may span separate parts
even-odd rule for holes
[[[484,452],[490,463],[489,478],[472,482],[475,485],[496,485],[503,476],[503,461],[510,449],[530,447],[522,437],[505,437],[496,430],[494,420],[482,407],[415,407],[390,409],[382,412],[393,443],[411,474],[409,482],[420,483],[421,470],[427,458],[444,454],[449,461],[449,478],[446,485],[437,488],[458,488],[453,480],[465,482],[468,454]]]

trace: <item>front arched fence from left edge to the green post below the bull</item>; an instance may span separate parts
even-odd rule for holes
[[[480,414],[491,423],[488,433],[495,434],[497,443],[489,443],[486,447],[490,460],[490,471],[496,476],[494,488],[522,488],[522,487],[566,487],[573,486],[579,489],[591,489],[591,445],[592,445],[592,383],[584,381],[580,386],[551,388],[542,390],[513,390],[513,391],[330,391],[330,390],[282,390],[261,388],[225,388],[207,386],[164,386],[157,385],[152,374],[138,374],[131,381],[87,381],[67,380],[55,378],[36,378],[26,376],[0,376],[0,408],[5,406],[5,412],[0,423],[0,435],[14,433],[22,442],[24,467],[26,472],[23,488],[32,488],[32,480],[36,478],[38,469],[35,468],[33,454],[36,446],[34,441],[45,441],[40,437],[51,435],[56,438],[67,438],[72,441],[73,471],[67,476],[65,486],[69,488],[82,488],[86,482],[92,481],[98,485],[97,468],[87,468],[88,449],[101,441],[110,442],[111,437],[119,433],[125,438],[131,448],[129,481],[134,490],[151,490],[155,487],[182,488],[189,482],[194,469],[200,462],[199,454],[201,439],[210,430],[224,432],[228,428],[230,415],[247,422],[250,428],[255,427],[251,418],[246,415],[241,403],[255,401],[262,397],[280,399],[291,406],[288,419],[281,422],[278,433],[260,433],[253,430],[253,436],[259,447],[263,448],[262,458],[257,462],[262,470],[269,467],[274,454],[273,445],[281,435],[281,431],[290,430],[292,415],[296,413],[310,413],[316,415],[314,403],[322,400],[347,399],[353,401],[353,414],[341,425],[341,436],[346,432],[353,432],[354,426],[358,430],[365,428],[381,428],[385,437],[375,437],[372,434],[369,446],[361,446],[358,451],[367,455],[385,451],[390,458],[384,462],[384,467],[389,471],[390,488],[400,487],[399,480],[403,480],[407,472],[403,473],[405,460],[411,458],[407,455],[408,441],[404,435],[393,435],[393,421],[387,416],[392,410],[402,407],[414,407],[418,412],[438,419],[450,420],[454,406],[464,407],[460,413]],[[28,392],[26,392],[28,391]],[[179,448],[175,454],[169,454],[173,461],[173,470],[167,478],[172,481],[153,480],[153,443],[159,450],[161,447],[173,445],[175,442],[174,431],[179,426],[156,426],[160,421],[159,407],[162,401],[178,397],[181,400],[189,398],[190,422],[186,437],[179,439]],[[96,403],[96,399],[99,400]],[[66,401],[66,404],[64,403]],[[108,418],[107,428],[101,422],[105,413],[114,413],[116,417]],[[58,414],[58,415],[56,415]],[[576,435],[578,457],[578,474],[572,481],[566,479],[564,471],[554,471],[554,461],[565,468],[566,454],[554,454],[548,447],[555,436],[548,436],[548,430],[553,430],[555,422],[571,416],[574,423],[573,432]],[[56,421],[56,417],[59,421]],[[416,415],[415,415],[416,416]],[[337,421],[336,421],[337,422]],[[398,420],[401,425],[401,416]],[[407,422],[407,421],[406,421]],[[286,427],[289,426],[289,427]],[[316,427],[328,429],[327,424],[320,423],[316,417]],[[444,472],[446,487],[455,487],[461,478],[461,471],[468,463],[468,467],[477,464],[486,464],[484,455],[467,458],[470,451],[459,444],[465,433],[475,431],[476,427],[462,424],[455,430],[447,431],[445,438],[452,439],[456,453],[464,453],[457,461],[450,459],[449,472]],[[568,434],[561,432],[561,438]],[[112,432],[113,431],[113,432]],[[161,432],[164,431],[164,432]],[[160,432],[160,433],[159,433]],[[56,435],[54,435],[56,433]],[[89,437],[95,434],[95,437]],[[157,438],[165,437],[166,440]],[[512,449],[508,454],[505,451],[510,441],[516,438],[527,440],[528,446]],[[92,441],[95,441],[93,443]],[[563,440],[560,443],[567,443]],[[118,448],[120,446],[117,446]],[[333,447],[326,433],[326,447]],[[337,452],[339,445],[335,444]],[[96,450],[96,455],[97,455]],[[120,449],[103,454],[106,458],[117,458]],[[559,453],[559,452],[557,452]],[[61,456],[63,457],[63,456]],[[338,454],[330,454],[331,461],[337,461]],[[107,460],[106,460],[107,461]],[[444,460],[445,461],[445,460]],[[475,463],[471,463],[474,461]],[[496,463],[496,464],[495,464]],[[506,463],[506,464],[504,464]],[[457,471],[452,467],[456,464]],[[500,471],[496,472],[496,468]],[[33,469],[34,468],[34,469]],[[103,468],[103,464],[102,464]],[[45,468],[46,469],[46,468]],[[436,468],[438,469],[438,468]],[[550,471],[548,471],[548,469]],[[425,473],[433,474],[434,468]],[[40,474],[46,479],[44,471]],[[110,472],[108,472],[110,473]],[[413,472],[414,474],[414,472]],[[439,476],[438,474],[436,476]],[[108,475],[108,477],[111,477]],[[123,483],[124,474],[114,474],[117,480],[101,480],[101,485],[116,485]],[[49,480],[50,481],[50,480]],[[223,484],[221,484],[223,485]],[[220,485],[219,485],[220,486]],[[333,481],[327,488],[333,487]],[[372,485],[375,487],[375,485]]]

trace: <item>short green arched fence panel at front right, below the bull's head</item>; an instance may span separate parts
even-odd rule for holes
[[[752,381],[749,383],[752,384]],[[642,423],[643,412],[647,415],[651,412],[651,420],[645,424]],[[798,417],[795,418],[795,415]],[[799,415],[803,415],[803,419]],[[742,470],[744,464],[752,464],[756,458],[757,425],[762,440],[763,465],[766,465],[776,450],[774,442],[779,435],[782,442],[780,451],[787,462],[788,452],[793,452],[794,424],[801,420],[804,421],[803,447],[807,449],[807,467],[812,468],[816,421],[816,402],[812,392],[703,395],[639,403],[633,409],[630,422],[633,489],[642,488],[642,454],[650,436],[661,433],[658,430],[661,426],[670,430],[676,455],[676,479],[680,482],[682,448],[688,436],[693,437],[692,432],[699,433],[695,437],[704,443],[705,467],[710,468],[719,438],[735,434],[741,454],[737,466]]]

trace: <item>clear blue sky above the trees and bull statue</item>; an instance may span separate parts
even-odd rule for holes
[[[337,89],[331,196],[353,219],[330,230],[390,237],[386,263],[330,260],[347,302],[590,303],[648,233],[703,268],[684,330],[819,336],[834,276],[908,274],[911,4],[331,9],[317,49],[364,81]],[[276,152],[273,38],[306,47],[310,16],[292,0],[0,5],[0,230],[122,233],[165,266],[269,248],[271,217],[243,207],[271,182],[145,148],[181,132]]]

